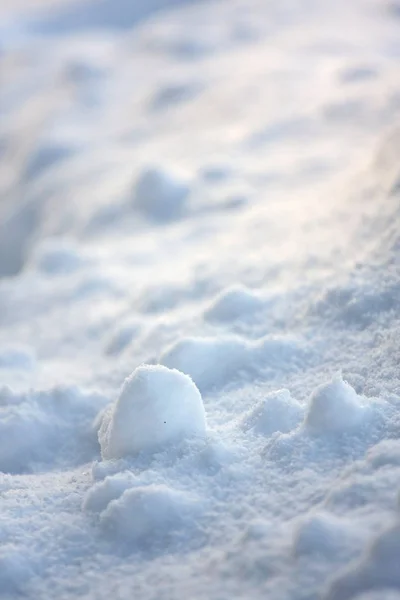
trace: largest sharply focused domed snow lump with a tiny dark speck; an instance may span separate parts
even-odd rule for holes
[[[108,460],[154,451],[205,431],[203,401],[190,377],[161,365],[143,365],[125,380],[104,413],[101,455]]]

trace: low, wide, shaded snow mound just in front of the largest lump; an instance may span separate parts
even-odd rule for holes
[[[166,485],[126,490],[100,515],[104,529],[126,542],[149,546],[168,541],[177,531],[188,533],[201,511],[199,499]]]

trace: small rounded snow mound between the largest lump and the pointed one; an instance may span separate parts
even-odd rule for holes
[[[261,435],[287,433],[302,420],[303,408],[289,390],[271,392],[245,415],[241,427]]]

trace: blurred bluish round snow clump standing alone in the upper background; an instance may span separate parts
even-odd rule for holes
[[[133,205],[148,218],[169,221],[182,214],[189,193],[190,187],[181,175],[150,167],[139,175]]]

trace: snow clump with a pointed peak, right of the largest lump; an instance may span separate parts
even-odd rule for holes
[[[367,408],[362,398],[337,375],[311,394],[305,426],[314,433],[340,433],[356,427]]]

